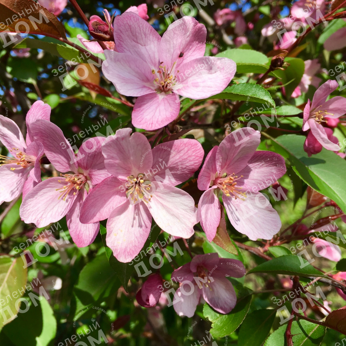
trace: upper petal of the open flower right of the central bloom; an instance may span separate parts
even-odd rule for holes
[[[222,140],[216,152],[216,168],[219,175],[238,173],[253,156],[261,142],[259,131],[240,128]]]

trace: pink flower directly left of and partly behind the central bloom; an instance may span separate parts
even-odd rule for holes
[[[55,169],[66,174],[48,178],[31,190],[20,206],[21,218],[27,224],[45,227],[66,215],[75,244],[78,247],[91,244],[97,236],[99,223],[84,225],[79,221],[79,213],[88,190],[109,176],[101,153],[103,138],[86,140],[76,158],[70,143],[56,125],[37,120],[31,125],[31,131],[43,144],[44,152]]]

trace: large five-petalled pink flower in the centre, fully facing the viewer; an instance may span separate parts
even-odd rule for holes
[[[141,19],[142,20],[142,19]],[[195,139],[178,139],[151,149],[147,138],[120,129],[102,153],[109,178],[83,203],[81,222],[108,218],[106,242],[120,262],[129,262],[148,238],[152,217],[164,231],[189,238],[197,224],[193,198],[175,185],[188,180],[203,160]]]

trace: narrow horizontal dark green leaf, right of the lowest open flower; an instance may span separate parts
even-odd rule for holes
[[[273,258],[270,261],[257,265],[256,267],[249,270],[247,274],[267,273],[267,274],[286,274],[286,275],[299,275],[299,276],[325,276],[319,270],[315,269],[311,264],[308,264],[302,268],[300,266],[301,266],[301,263],[298,256],[285,255],[285,256]]]

